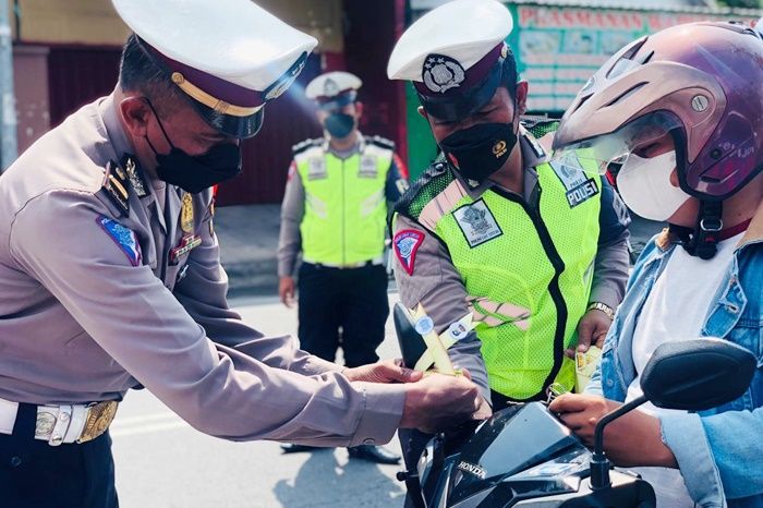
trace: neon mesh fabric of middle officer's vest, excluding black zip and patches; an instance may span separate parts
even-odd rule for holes
[[[443,216],[435,231],[448,245],[470,297],[504,304],[487,309],[483,300],[473,302],[475,315],[491,317],[477,325],[476,334],[482,341],[491,388],[518,400],[542,394],[555,365],[559,310],[549,291],[556,270],[548,249],[555,250],[564,262],[558,287],[566,307],[562,312],[567,313],[567,348],[577,342],[576,328],[588,306],[598,241],[601,193],[571,208],[567,190],[550,166],[544,164],[536,169],[542,189],[540,215],[553,246],[544,249],[538,229],[519,202],[493,191],[480,199],[495,217],[502,231],[500,237],[470,247],[452,213]],[[592,178],[601,190],[598,176],[586,178]],[[453,210],[473,202],[463,197]],[[530,313],[526,320],[521,318],[522,311]],[[562,361],[555,380],[572,388],[572,361]]]

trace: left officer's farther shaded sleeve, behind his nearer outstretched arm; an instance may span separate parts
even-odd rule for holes
[[[230,310],[226,297],[228,276],[220,265],[220,246],[209,226],[211,220],[207,207],[197,229],[202,244],[189,254],[185,276],[173,290],[193,320],[204,327],[207,337],[278,368],[307,375],[341,370],[335,363],[300,350],[291,337],[264,337]]]

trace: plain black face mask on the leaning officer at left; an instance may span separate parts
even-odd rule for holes
[[[234,143],[220,143],[213,146],[205,154],[191,156],[172,144],[167,131],[148,99],[148,107],[154,111],[154,117],[169,143],[169,154],[159,154],[148,136],[146,142],[156,156],[156,173],[159,180],[178,185],[183,191],[196,194],[213,185],[230,180],[241,172],[241,147]]]

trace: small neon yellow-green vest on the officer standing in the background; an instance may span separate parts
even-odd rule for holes
[[[392,154],[373,140],[347,159],[331,154],[318,140],[294,148],[294,162],[305,190],[300,225],[305,261],[358,266],[383,255],[385,184]]]

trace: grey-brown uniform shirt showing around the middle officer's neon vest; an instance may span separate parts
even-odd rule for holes
[[[538,142],[529,137],[530,135],[524,129],[522,129],[522,133],[519,141],[524,161],[522,197],[530,202],[537,188],[537,172],[534,168],[546,159],[544,148]],[[482,185],[471,189],[465,182],[462,182],[462,188],[474,198],[477,198],[493,185],[497,184],[487,180]],[[603,213],[600,215],[602,232],[594,262],[590,300],[617,309],[625,293],[630,267],[628,250],[630,218],[625,205],[604,179],[602,185]],[[400,215],[396,216],[393,233],[405,229],[420,231],[424,240],[415,252],[413,275],[409,275],[401,267],[400,261],[396,256],[393,267],[400,290],[400,300],[409,309],[415,309],[421,303],[434,320],[436,331],[441,334],[451,323],[459,320],[470,312],[467,303],[467,289],[463,286],[461,275],[450,261],[446,246],[416,221]],[[471,372],[473,380],[482,388],[485,398],[489,400],[487,372],[480,353],[480,340],[472,331],[456,342],[448,350],[448,353],[455,365],[467,367]]]

